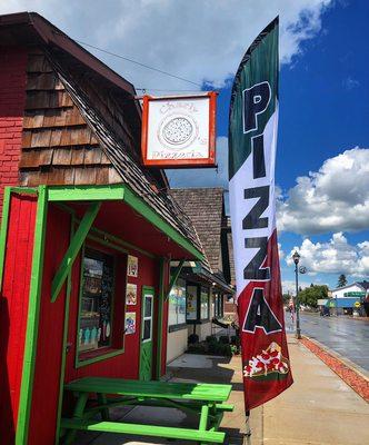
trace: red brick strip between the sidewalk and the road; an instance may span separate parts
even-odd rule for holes
[[[349,385],[360,397],[369,403],[369,378],[361,373],[352,363],[348,363],[339,354],[332,353],[319,342],[302,336],[299,342],[307,349],[319,357],[333,373],[336,373],[347,385]]]

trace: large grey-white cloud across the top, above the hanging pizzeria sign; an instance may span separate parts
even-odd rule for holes
[[[7,0],[0,13],[34,10],[74,39],[202,83],[222,86],[255,37],[280,14],[283,62],[321,30],[332,0]],[[137,87],[193,89],[96,52]]]

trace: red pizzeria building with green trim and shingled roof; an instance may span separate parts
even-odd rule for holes
[[[37,13],[0,17],[0,442],[47,445],[64,382],[164,374],[168,265],[202,250],[131,83]]]

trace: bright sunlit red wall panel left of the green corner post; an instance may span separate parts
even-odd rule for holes
[[[0,443],[12,444],[23,366],[36,198],[13,195],[0,295]]]

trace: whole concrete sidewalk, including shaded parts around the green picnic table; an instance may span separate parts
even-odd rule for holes
[[[279,397],[251,411],[251,437],[248,445],[365,445],[369,444],[369,405],[346,385],[328,366],[303,345],[289,337],[295,384]],[[245,433],[242,373],[240,357],[231,360],[184,354],[169,367],[173,382],[229,383],[233,385],[230,403],[233,413],[226,413],[221,427],[227,444],[241,445]],[[198,422],[177,409],[136,407],[117,411],[124,422],[190,425]],[[76,444],[184,444],[148,437],[116,434],[81,434]],[[188,442],[187,444],[190,444]]]

